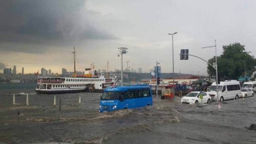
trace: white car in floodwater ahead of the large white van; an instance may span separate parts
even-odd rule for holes
[[[184,97],[181,98],[181,103],[187,103],[187,104],[197,104],[201,103],[201,99],[199,97],[200,91],[193,91],[190,93],[187,93]],[[203,103],[210,103],[211,102],[211,97],[208,95],[206,92],[202,92],[203,94]]]

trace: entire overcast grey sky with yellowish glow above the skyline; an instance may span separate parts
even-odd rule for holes
[[[74,46],[77,70],[94,63],[97,69],[121,69],[118,47],[133,70],[149,72],[160,62],[162,72],[206,75],[206,62],[190,57],[179,60],[180,49],[205,60],[222,46],[240,42],[251,55],[256,49],[256,1],[0,1],[0,68],[34,73],[41,67],[60,73],[73,71]]]

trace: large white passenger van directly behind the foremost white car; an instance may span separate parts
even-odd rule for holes
[[[208,94],[211,100],[217,101],[216,82],[212,83]],[[240,83],[237,80],[225,80],[218,84],[218,100],[224,101],[227,99],[238,99],[242,96]]]

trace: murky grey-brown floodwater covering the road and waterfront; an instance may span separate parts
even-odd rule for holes
[[[101,93],[55,95],[54,105],[54,95],[34,87],[0,92],[1,144],[256,143],[256,132],[245,128],[256,123],[256,97],[199,107],[154,96],[150,108],[100,113]]]

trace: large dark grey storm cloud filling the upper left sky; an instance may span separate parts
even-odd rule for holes
[[[83,9],[81,13],[84,5],[83,0],[2,0],[0,42],[41,44],[48,40],[115,39],[92,24],[88,18],[92,12]]]

